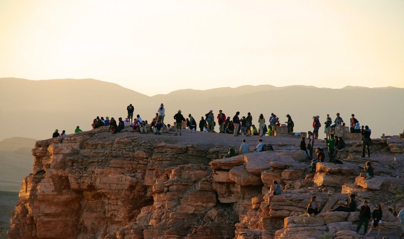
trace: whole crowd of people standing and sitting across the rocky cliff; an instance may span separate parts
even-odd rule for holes
[[[151,122],[148,123],[147,120],[142,120],[140,115],[136,115],[135,118],[133,118],[133,112],[134,112],[134,107],[132,104],[127,106],[127,118],[125,120],[122,120],[121,117],[118,118],[118,122],[114,119],[114,117],[111,117],[111,119],[107,116],[105,119],[104,117],[96,117],[91,126],[93,129],[99,128],[99,127],[106,127],[107,131],[112,132],[112,133],[119,133],[121,130],[124,129],[125,126],[131,126],[134,131],[140,132],[140,133],[148,133],[153,131],[155,134],[162,134],[164,128],[168,128],[171,130],[175,130],[175,136],[178,134],[181,136],[182,135],[182,126],[183,122],[185,123],[185,127],[187,130],[196,131],[196,128],[198,127],[200,131],[202,132],[216,132],[215,131],[215,126],[216,122],[215,119],[217,119],[217,122],[219,124],[219,133],[229,133],[233,134],[234,136],[239,136],[239,135],[244,135],[244,136],[252,136],[252,135],[259,135],[260,137],[264,135],[268,136],[276,136],[277,135],[277,127],[281,126],[279,117],[276,116],[274,113],[271,114],[268,122],[269,125],[267,126],[266,120],[263,114],[260,114],[258,118],[258,128],[252,123],[252,116],[251,113],[248,112],[246,116],[242,116],[240,118],[240,112],[236,112],[233,118],[230,118],[223,113],[222,110],[219,110],[219,114],[215,117],[213,110],[210,110],[207,114],[205,114],[205,117],[202,116],[197,124],[195,118],[191,115],[188,114],[188,118],[185,118],[182,115],[182,111],[178,110],[178,112],[174,115],[174,123],[173,125],[170,124],[165,124],[164,119],[165,119],[165,108],[164,104],[162,103],[160,107],[157,110],[156,116],[151,119]],[[285,124],[287,125],[287,132],[288,134],[293,134],[293,127],[294,127],[294,122],[289,114],[286,115],[287,121],[285,121]],[[371,140],[371,130],[370,128],[366,125],[362,127],[360,126],[359,121],[355,118],[355,115],[352,114],[350,118],[350,125],[349,125],[349,131],[351,133],[361,133],[362,134],[362,156],[365,157],[365,153],[367,152],[368,158],[370,157],[370,146],[372,144]],[[340,117],[340,114],[336,114],[336,118],[334,121],[332,121],[331,117],[329,114],[327,114],[326,121],[324,122],[324,133],[326,134],[326,137],[324,138],[326,142],[326,149],[328,152],[329,156],[329,161],[331,163],[339,163],[339,160],[336,160],[335,157],[338,154],[338,151],[342,150],[345,148],[345,142],[342,137],[338,137],[335,134],[335,127],[336,126],[345,126],[345,123],[343,119]],[[324,149],[322,148],[315,148],[315,141],[319,137],[319,129],[322,127],[320,123],[320,116],[313,116],[313,123],[312,123],[312,128],[313,130],[308,132],[307,137],[301,137],[300,141],[300,149],[305,151],[308,157],[311,159],[311,170],[310,173],[315,172],[316,170],[316,165],[318,162],[324,162],[325,160],[325,153]],[[82,130],[80,129],[79,126],[76,127],[74,130],[75,133],[79,133]],[[59,130],[56,129],[55,132],[53,133],[53,137],[59,137],[59,136],[65,136],[66,132],[65,130],[62,131],[62,134],[59,133]],[[306,144],[306,139],[308,140]],[[315,156],[313,156],[313,149],[315,149]],[[258,145],[254,149],[254,152],[261,152],[261,151],[267,151],[267,150],[273,150],[272,145],[266,145],[264,144],[263,140],[259,138]],[[239,147],[238,152],[236,153],[235,149],[233,146],[229,146],[229,151],[225,157],[233,157],[237,154],[246,154],[249,153],[249,147],[246,144],[246,140],[242,140],[242,144]],[[339,162],[338,162],[339,161]],[[366,177],[366,180],[371,179],[374,176],[374,168],[371,165],[371,162],[366,162],[365,167],[364,167],[365,173],[362,175]],[[280,195],[282,193],[282,189],[278,181],[274,180],[270,189],[268,190],[268,193],[264,196],[264,200],[267,203],[268,208],[271,205],[271,199],[276,196]],[[338,207],[333,209],[332,211],[344,211],[344,212],[355,212],[357,210],[357,203],[355,200],[355,195],[351,194],[349,196],[349,200],[346,199],[344,203],[338,202]],[[315,216],[320,213],[320,208],[321,205],[320,203],[317,202],[316,196],[313,196],[310,200],[310,203],[307,207],[307,212],[310,216]],[[369,219],[372,220],[372,226],[370,227],[368,231],[368,223]],[[356,231],[359,232],[359,230],[362,227],[362,224],[364,224],[364,234],[368,235],[371,231],[372,228],[377,228],[377,235],[379,236],[380,234],[380,224],[382,223],[381,221],[382,218],[382,209],[379,204],[375,205],[373,209],[373,213],[371,214],[371,210],[368,206],[368,202],[365,200],[363,202],[363,205],[361,206],[360,209],[360,215],[359,215],[359,222],[358,226],[356,228]],[[404,209],[402,209],[399,214],[397,215],[397,218],[400,221],[400,226],[402,230],[404,231]],[[400,238],[404,235],[404,232],[400,235]]]

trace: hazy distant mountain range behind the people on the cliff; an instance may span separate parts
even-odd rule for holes
[[[160,103],[166,108],[166,123],[181,110],[185,117],[191,113],[200,119],[210,109],[230,117],[251,112],[253,123],[263,113],[271,113],[286,121],[290,114],[295,131],[311,130],[312,117],[320,115],[323,123],[329,113],[334,120],[339,112],[345,122],[354,113],[361,124],[369,125],[372,136],[402,132],[404,108],[400,105],[404,88],[367,88],[345,86],[342,89],[293,85],[244,85],[208,90],[181,89],[153,97],[114,83],[94,79],[27,80],[0,78],[0,116],[4,125],[0,140],[9,137],[49,138],[55,129],[74,132],[77,125],[90,130],[96,116],[125,118],[126,106],[135,107],[135,115],[150,120]],[[184,88],[188,84],[184,84]],[[164,87],[153,85],[150,87]],[[181,86],[179,86],[181,87]],[[198,121],[198,120],[197,120]],[[322,132],[322,129],[320,131]],[[323,136],[323,135],[320,135]]]

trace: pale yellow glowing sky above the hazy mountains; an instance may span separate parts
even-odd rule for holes
[[[404,1],[0,1],[0,77],[404,87]]]

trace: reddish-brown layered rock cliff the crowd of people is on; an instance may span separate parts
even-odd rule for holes
[[[310,162],[299,137],[263,137],[275,151],[223,159],[228,146],[258,136],[189,133],[174,136],[106,129],[37,141],[33,173],[25,177],[11,219],[10,238],[334,238],[364,237],[355,231],[358,212],[327,212],[357,195],[381,204],[381,234],[397,236],[404,205],[404,139],[374,139],[371,158],[358,140],[338,153],[343,164]],[[324,147],[323,140],[316,147]],[[375,177],[360,177],[366,160]],[[326,159],[328,161],[328,159]],[[283,193],[266,207],[263,196],[278,180]],[[308,217],[316,195],[322,213]],[[372,235],[376,235],[375,231]]]

